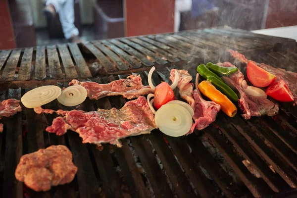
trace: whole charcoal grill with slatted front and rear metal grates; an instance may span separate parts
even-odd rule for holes
[[[129,37],[84,44],[64,44],[0,51],[0,100],[21,96],[42,85],[66,87],[71,79],[98,83],[140,74],[144,84],[151,66],[155,84],[168,82],[171,68],[195,76],[199,63],[231,61],[227,49],[248,59],[297,71],[296,42],[251,32],[213,28]],[[240,66],[238,64],[238,66]],[[178,95],[178,93],[176,93]],[[120,108],[121,97],[87,99],[85,111]],[[53,101],[48,108],[65,107]],[[55,115],[32,109],[3,118],[0,134],[0,195],[3,198],[94,197],[296,197],[297,106],[281,104],[274,117],[244,120],[218,113],[203,131],[181,138],[149,135],[121,140],[123,147],[83,144],[75,132],[56,136],[45,131]],[[16,181],[22,154],[66,145],[78,173],[72,183],[36,193]],[[245,165],[246,164],[246,165]]]

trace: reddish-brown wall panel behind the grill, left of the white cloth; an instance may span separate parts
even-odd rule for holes
[[[173,32],[175,0],[125,0],[125,36]]]

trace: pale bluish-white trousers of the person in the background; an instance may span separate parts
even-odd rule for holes
[[[52,4],[59,13],[63,33],[66,39],[72,35],[79,35],[74,25],[74,0],[47,0],[47,5]]]

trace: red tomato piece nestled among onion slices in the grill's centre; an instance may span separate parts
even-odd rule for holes
[[[159,109],[163,104],[171,100],[174,100],[174,92],[168,83],[163,82],[156,86],[153,101],[153,105],[156,109]]]

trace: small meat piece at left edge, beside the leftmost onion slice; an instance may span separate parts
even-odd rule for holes
[[[20,106],[20,100],[17,99],[5,99],[0,102],[0,118],[9,117],[16,114],[19,111],[22,111]],[[3,124],[0,124],[0,132],[3,131]]]

